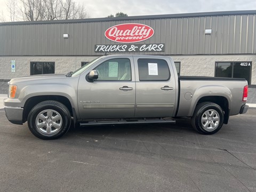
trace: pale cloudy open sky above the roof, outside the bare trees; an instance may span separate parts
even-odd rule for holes
[[[6,2],[0,0],[0,13],[6,12]],[[256,10],[256,0],[75,0],[84,3],[90,18],[104,18],[117,12],[129,16],[212,11]]]

